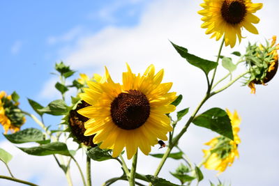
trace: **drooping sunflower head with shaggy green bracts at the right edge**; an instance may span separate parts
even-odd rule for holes
[[[278,69],[279,45],[276,45],[276,36],[273,36],[271,42],[263,45],[248,45],[246,49],[246,65],[250,69],[250,77],[247,84],[251,88],[251,93],[256,92],[255,84],[265,85],[275,75]]]

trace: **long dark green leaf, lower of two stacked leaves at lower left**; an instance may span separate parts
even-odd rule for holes
[[[61,142],[53,142],[50,144],[34,146],[31,148],[22,148],[22,147],[17,147],[17,148],[20,148],[20,150],[22,150],[24,153],[27,153],[29,155],[59,154],[59,155],[71,156],[67,145]]]

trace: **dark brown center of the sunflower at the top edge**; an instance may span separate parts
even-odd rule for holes
[[[244,0],[225,0],[221,8],[222,17],[229,24],[239,24],[242,22],[246,12]]]

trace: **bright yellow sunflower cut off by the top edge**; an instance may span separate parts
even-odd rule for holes
[[[241,42],[241,28],[244,27],[250,33],[258,34],[252,24],[257,24],[259,18],[252,13],[262,8],[262,3],[252,3],[251,0],[204,0],[200,6],[204,10],[198,13],[202,17],[203,29],[211,38],[219,40],[225,34],[225,45],[234,47],[236,36]]]

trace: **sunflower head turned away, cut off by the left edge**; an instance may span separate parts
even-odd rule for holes
[[[25,123],[26,118],[18,107],[19,102],[15,102],[11,95],[6,92],[0,92],[0,123],[3,125],[5,134],[10,132],[17,132],[20,127]]]

